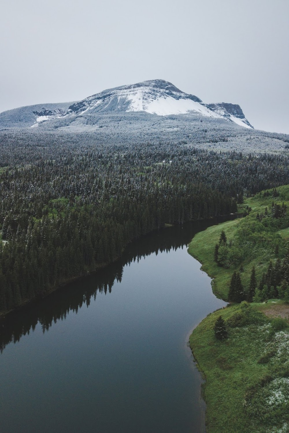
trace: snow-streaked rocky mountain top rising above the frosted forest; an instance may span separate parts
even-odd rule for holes
[[[178,114],[204,116],[234,122],[246,128],[253,128],[245,118],[239,105],[231,103],[206,104],[197,96],[182,92],[172,83],[164,80],[142,81],[141,83],[107,89],[79,102],[72,103],[66,110],[63,109],[63,106],[64,104],[59,107],[57,107],[57,104],[53,104],[53,106],[52,104],[46,104],[46,107],[43,106],[42,110],[34,109],[32,111],[34,123],[30,126],[36,127],[40,123],[47,123],[51,120],[87,117],[91,114],[146,112],[158,116]],[[24,108],[27,111],[29,107]],[[10,117],[11,111],[13,110],[10,110]],[[0,124],[1,119],[6,119],[5,113],[8,112],[0,114]],[[17,113],[17,116],[19,117],[19,113]]]

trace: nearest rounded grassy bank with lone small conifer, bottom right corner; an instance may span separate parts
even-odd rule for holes
[[[209,433],[286,432],[289,428],[289,329],[257,304],[235,304],[206,317],[190,336],[205,373]],[[221,315],[228,338],[214,336]]]

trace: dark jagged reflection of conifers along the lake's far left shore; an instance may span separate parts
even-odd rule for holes
[[[234,217],[232,216],[232,219]],[[0,351],[2,352],[7,344],[16,343],[23,335],[34,331],[38,322],[44,333],[52,326],[52,322],[65,319],[70,310],[77,313],[83,304],[89,306],[91,297],[95,300],[97,291],[110,293],[114,282],[121,281],[124,266],[153,253],[157,255],[159,252],[169,252],[171,249],[186,246],[195,233],[224,220],[228,220],[228,217],[190,222],[143,236],[128,245],[116,262],[66,285],[42,300],[10,313],[0,322]]]

